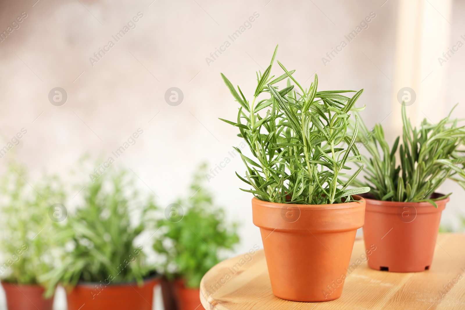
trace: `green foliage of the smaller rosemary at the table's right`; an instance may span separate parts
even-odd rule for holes
[[[457,119],[450,119],[452,111],[438,124],[424,119],[417,129],[412,127],[402,106],[402,143],[399,145],[397,137],[392,148],[385,140],[381,124],[370,132],[361,122],[358,141],[365,145],[371,158],[362,156],[366,182],[355,180],[354,184],[370,186],[370,193],[378,200],[428,201],[435,207],[435,200],[450,195],[432,197],[447,178],[465,188],[464,151],[458,150],[465,141],[465,126],[458,126]],[[400,165],[396,164],[396,154]]]

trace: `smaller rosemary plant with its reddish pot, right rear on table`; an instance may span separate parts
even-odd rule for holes
[[[441,213],[450,195],[436,190],[447,178],[465,187],[460,167],[465,158],[458,149],[465,127],[450,116],[438,124],[424,119],[417,129],[402,106],[402,140],[397,137],[392,147],[380,124],[371,132],[360,124],[359,142],[369,157],[364,157],[365,181],[356,183],[371,187],[365,196],[363,227],[365,246],[375,244],[377,249],[368,261],[371,268],[412,272],[431,266]]]

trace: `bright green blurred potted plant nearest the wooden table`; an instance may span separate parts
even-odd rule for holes
[[[161,236],[153,248],[166,259],[161,270],[173,284],[179,310],[202,307],[200,280],[222,260],[221,251],[232,250],[239,243],[238,224],[226,224],[224,211],[214,204],[213,195],[204,187],[205,171],[206,164],[202,164],[193,176],[189,198],[170,204],[166,219],[157,222]]]

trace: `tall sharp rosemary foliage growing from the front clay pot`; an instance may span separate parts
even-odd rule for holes
[[[235,90],[221,73],[234,99],[239,102],[237,122],[221,119],[239,128],[239,137],[246,140],[253,157],[240,153],[245,165],[245,177],[237,176],[252,189],[260,200],[291,204],[333,204],[351,201],[351,195],[365,193],[369,187],[348,189],[363,169],[355,145],[359,121],[348,131],[351,111],[363,89],[352,98],[341,95],[349,90],[317,91],[315,74],[309,89],[294,79],[295,70],[288,71],[279,61],[284,74],[270,76],[278,46],[265,72],[257,73],[258,85],[249,102],[239,86]],[[289,78],[287,86],[278,90],[276,83]],[[291,82],[292,81],[292,82]],[[294,86],[298,87],[294,91]],[[264,112],[265,108],[268,108]],[[350,156],[352,153],[352,156]],[[339,176],[351,169],[347,163],[357,162],[360,168],[343,182]]]

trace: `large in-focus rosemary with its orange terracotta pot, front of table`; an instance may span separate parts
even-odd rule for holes
[[[369,191],[348,188],[362,168],[348,181],[340,179],[348,163],[362,163],[355,145],[359,123],[355,118],[349,132],[348,120],[351,111],[363,110],[354,107],[363,90],[352,98],[341,93],[353,91],[317,91],[316,74],[306,89],[294,79],[295,70],[279,61],[284,74],[274,78],[275,55],[257,73],[251,102],[222,74],[240,104],[236,122],[222,120],[239,128],[254,158],[236,148],[246,165],[245,176],[238,177],[251,187],[241,190],[255,196],[253,223],[260,228],[273,294],[300,302],[332,300],[342,293],[364,222],[365,201],[354,195]],[[279,90],[276,83],[287,78]]]

